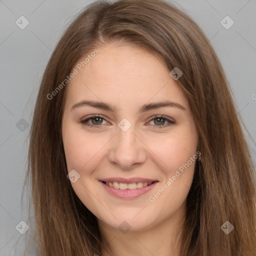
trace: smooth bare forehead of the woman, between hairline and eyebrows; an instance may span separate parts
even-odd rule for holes
[[[141,105],[150,100],[172,99],[188,107],[160,57],[134,46],[108,44],[97,49],[86,64],[80,68],[75,65],[78,72],[66,88],[70,104],[94,99],[114,105]]]

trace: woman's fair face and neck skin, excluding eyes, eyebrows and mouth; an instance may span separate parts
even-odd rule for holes
[[[106,44],[98,50],[66,88],[62,139],[68,172],[75,169],[80,175],[71,182],[72,188],[97,218],[103,256],[179,255],[195,161],[155,201],[149,201],[149,196],[197,151],[189,103],[159,57],[119,44]],[[70,110],[82,100],[107,102],[116,109],[82,106]],[[141,105],[163,100],[176,102],[185,110],[167,106],[138,113]],[[100,127],[81,123],[93,114],[104,119],[87,123]],[[157,121],[155,115],[164,115],[175,124]],[[123,118],[131,124],[126,131],[118,126]],[[102,177],[144,177],[158,182],[137,198],[120,199],[103,188]],[[123,221],[130,226],[126,233],[118,229]]]

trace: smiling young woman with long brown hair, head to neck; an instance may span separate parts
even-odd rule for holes
[[[236,114],[186,14],[160,0],[87,6],[34,110],[41,255],[256,255],[255,170]]]

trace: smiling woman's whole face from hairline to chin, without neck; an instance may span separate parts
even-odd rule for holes
[[[197,132],[170,70],[149,52],[114,44],[79,68],[62,118],[76,195],[109,227],[126,221],[142,230],[184,213]]]

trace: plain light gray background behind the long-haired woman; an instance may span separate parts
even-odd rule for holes
[[[26,193],[23,207],[21,193],[36,94],[59,36],[73,15],[90,2],[0,0],[0,255],[22,255],[31,238],[32,223],[25,234],[20,234],[15,226],[27,219]],[[248,130],[245,135],[255,163],[256,0],[172,2],[197,22],[220,58],[239,116]],[[15,23],[21,15],[29,21],[24,29]],[[229,29],[220,23],[226,15],[234,21]],[[33,242],[35,246],[36,241]]]

